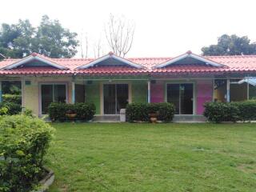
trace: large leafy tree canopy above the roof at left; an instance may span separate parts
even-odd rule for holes
[[[32,52],[50,58],[71,58],[77,53],[77,35],[47,15],[42,16],[37,27],[21,19],[17,24],[2,23],[0,53],[10,58],[23,58]]]

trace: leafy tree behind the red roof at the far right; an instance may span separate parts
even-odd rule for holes
[[[247,36],[223,34],[218,38],[217,45],[202,47],[203,55],[242,55],[256,54],[256,44],[250,43]]]

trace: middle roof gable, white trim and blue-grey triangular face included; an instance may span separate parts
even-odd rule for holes
[[[131,62],[126,58],[118,57],[117,55],[113,54],[113,52],[110,52],[102,58],[98,58],[92,62],[87,63],[86,65],[78,66],[77,69],[87,69],[93,66],[131,66],[138,69],[143,68],[143,66],[135,62]]]

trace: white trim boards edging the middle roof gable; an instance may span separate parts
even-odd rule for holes
[[[129,60],[127,60],[127,59],[125,59],[125,58],[121,58],[121,57],[118,57],[118,56],[116,56],[116,55],[110,53],[110,54],[106,54],[106,55],[103,56],[102,58],[98,58],[98,59],[94,60],[93,62],[89,62],[89,63],[87,63],[87,64],[84,65],[84,66],[78,66],[77,69],[81,69],[81,70],[87,69],[87,68],[89,68],[89,67],[91,67],[91,66],[97,65],[99,62],[105,61],[105,60],[108,59],[108,58],[114,58],[114,59],[118,60],[119,62],[126,63],[127,65],[133,66],[133,67],[135,67],[135,68],[142,68],[142,66],[141,66],[141,65],[138,65],[137,63],[130,62]]]

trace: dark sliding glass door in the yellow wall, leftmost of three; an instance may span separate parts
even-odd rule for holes
[[[66,102],[66,84],[41,85],[42,114],[48,113],[51,102]]]

